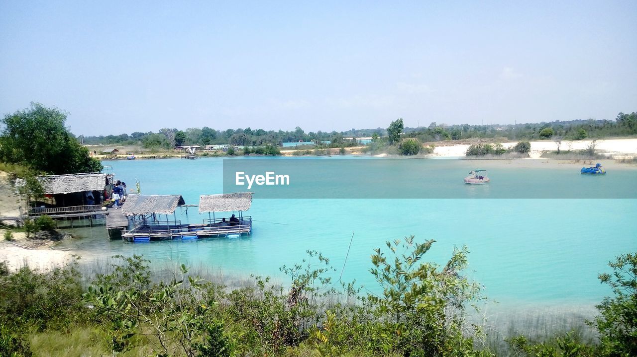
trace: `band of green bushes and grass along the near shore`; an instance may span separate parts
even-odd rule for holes
[[[335,283],[331,276],[337,269],[318,252],[281,268],[290,278],[287,286],[257,276],[254,285],[232,291],[190,275],[183,265],[168,280],[154,282],[148,261],[136,255],[116,257],[120,262],[92,279],[88,289],[80,286],[76,262],[15,273],[0,264],[0,355],[73,350],[154,356],[494,356],[480,347],[483,333],[465,318],[465,309],[483,299],[482,286],[464,276],[467,249],[454,249],[438,265],[425,262],[433,245],[410,236],[387,242],[386,251],[376,249],[370,272],[382,293],[365,295],[354,283]],[[519,336],[508,339],[505,355],[634,356],[637,254],[617,257],[610,266],[613,273],[599,278],[615,295],[598,306],[601,315],[591,323],[599,344],[586,344],[573,332],[545,340]]]

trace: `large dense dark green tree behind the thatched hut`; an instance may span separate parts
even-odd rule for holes
[[[103,166],[64,126],[66,113],[31,103],[1,120],[0,159],[53,175],[99,172]]]

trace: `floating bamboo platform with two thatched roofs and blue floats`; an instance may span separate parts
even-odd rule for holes
[[[122,230],[122,239],[142,243],[246,236],[252,234],[252,217],[243,216],[243,212],[250,208],[251,203],[252,192],[200,196],[199,213],[208,212],[208,219],[204,219],[203,224],[182,224],[175,213],[176,208],[187,207],[182,196],[129,194],[123,213],[131,217],[134,227]],[[217,212],[238,212],[238,217],[233,214],[229,218],[217,218],[214,215]],[[170,215],[173,219],[169,219]]]

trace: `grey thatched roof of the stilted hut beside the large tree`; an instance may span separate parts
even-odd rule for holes
[[[46,194],[67,194],[83,191],[102,191],[113,174],[73,173],[71,175],[38,176]],[[16,182],[18,185],[18,182]]]

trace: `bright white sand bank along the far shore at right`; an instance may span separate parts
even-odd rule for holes
[[[592,140],[563,140],[560,147],[563,151],[568,150],[583,150],[589,147]],[[513,147],[517,142],[503,143],[503,147],[506,149]],[[459,157],[464,156],[469,145],[457,144],[457,145],[443,145],[436,146],[434,149],[434,156],[443,157]],[[532,141],[531,142],[531,158],[540,158],[543,151],[556,151],[557,144],[551,140],[545,141]],[[637,139],[608,139],[597,140],[596,150],[602,154],[612,155],[614,158],[620,157],[632,157],[637,156]]]

